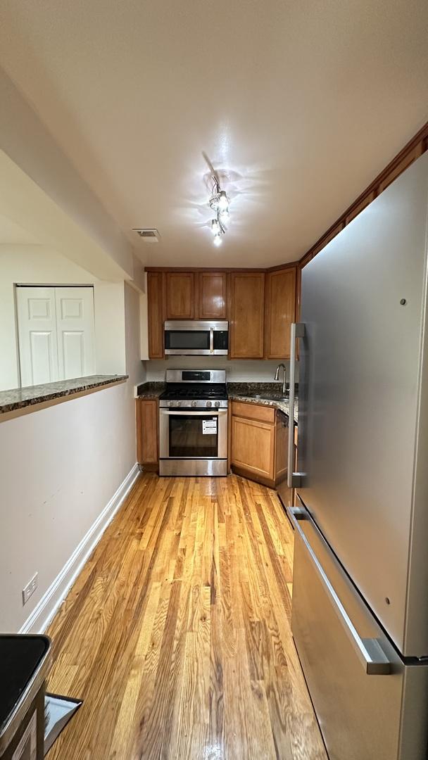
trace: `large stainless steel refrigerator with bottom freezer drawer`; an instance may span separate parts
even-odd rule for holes
[[[292,328],[292,628],[330,760],[428,756],[427,232],[423,154],[303,269]]]

